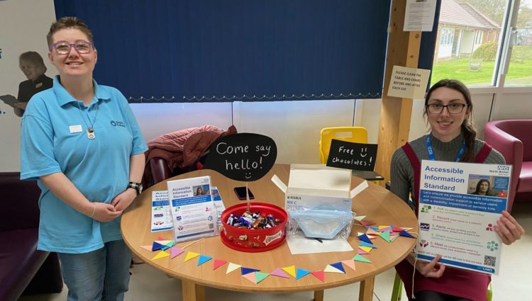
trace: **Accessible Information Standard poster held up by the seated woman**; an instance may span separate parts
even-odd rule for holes
[[[421,162],[417,258],[497,275],[501,240],[493,226],[506,210],[511,166]]]

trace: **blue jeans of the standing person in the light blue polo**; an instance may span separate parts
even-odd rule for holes
[[[84,254],[59,253],[68,301],[122,301],[128,291],[131,250],[123,242]]]

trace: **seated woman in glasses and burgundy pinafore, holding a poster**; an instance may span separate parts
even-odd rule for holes
[[[409,202],[411,194],[414,210],[419,201],[419,178],[413,166],[420,166],[421,160],[462,161],[486,164],[504,164],[504,157],[489,145],[476,140],[477,132],[470,125],[472,101],[467,87],[460,81],[443,79],[428,90],[425,98],[425,115],[431,125],[431,133],[406,143],[392,156],[390,171],[391,190]],[[419,162],[419,164],[417,164]],[[504,244],[511,244],[524,233],[514,217],[503,211],[494,226],[495,232]],[[431,262],[416,262],[414,295],[422,300],[475,300],[485,301],[489,276],[482,273],[445,268],[438,263],[441,256]],[[412,295],[412,275],[414,254],[396,266],[397,273],[404,282],[409,299]]]

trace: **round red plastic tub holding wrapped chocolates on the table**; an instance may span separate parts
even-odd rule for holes
[[[277,248],[284,239],[286,232],[284,226],[287,223],[288,215],[284,209],[268,203],[250,203],[250,211],[260,211],[260,215],[272,214],[281,223],[268,229],[245,229],[227,225],[227,219],[231,213],[242,215],[248,208],[246,203],[231,206],[223,210],[221,214],[220,238],[223,244],[243,252],[262,252]]]

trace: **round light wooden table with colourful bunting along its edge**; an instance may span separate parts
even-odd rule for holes
[[[290,166],[287,164],[275,164],[272,170],[258,181],[249,182],[248,186],[255,194],[255,202],[272,203],[284,207],[284,193],[270,180],[274,174],[288,183]],[[211,185],[217,186],[226,208],[240,203],[240,200],[233,192],[236,186],[245,186],[244,182],[233,181],[216,171],[201,170],[182,174],[168,180],[179,178],[192,178],[195,176],[211,176]],[[364,181],[362,178],[353,176],[351,186],[354,188]],[[394,225],[397,227],[411,227],[413,232],[418,232],[416,215],[403,200],[393,193],[387,191],[374,183],[368,183],[369,187],[353,198],[353,211],[357,215],[366,215],[365,220],[375,222],[375,225]],[[213,259],[223,259],[228,262],[237,263],[246,268],[256,268],[263,273],[271,273],[275,268],[296,266],[308,271],[319,271],[326,268],[330,263],[352,259],[358,249],[360,240],[356,235],[358,232],[365,232],[365,228],[360,225],[353,225],[348,242],[355,251],[348,252],[328,252],[318,254],[297,254],[292,255],[285,242],[277,249],[260,253],[246,253],[235,251],[225,246],[220,237],[209,237],[196,242],[184,249],[181,254],[174,259],[165,257],[162,259],[151,259],[156,252],[151,252],[141,248],[142,245],[151,245],[157,237],[171,239],[173,232],[150,232],[151,223],[151,195],[152,191],[167,190],[166,182],[160,182],[144,191],[133,204],[123,214],[121,230],[123,239],[130,249],[160,271],[182,280],[182,296],[184,301],[204,300],[204,286],[220,288],[223,290],[236,290],[244,292],[262,293],[292,293],[298,291],[314,290],[316,300],[323,300],[323,290],[347,285],[360,281],[359,300],[372,300],[374,277],[395,266],[404,259],[415,244],[415,239],[398,237],[395,242],[389,243],[377,237],[373,243],[378,249],[373,249],[370,254],[365,255],[372,263],[362,263],[355,261],[356,271],[345,268],[343,273],[326,273],[325,282],[309,275],[299,280],[295,278],[280,278],[269,276],[260,283],[254,284],[240,276],[240,271],[233,271],[226,274],[226,266],[213,270],[212,263],[207,262],[201,266],[196,266],[197,260],[184,262],[184,256],[188,251],[193,251]],[[183,247],[189,242],[177,244]],[[390,288],[392,290],[392,288]]]

